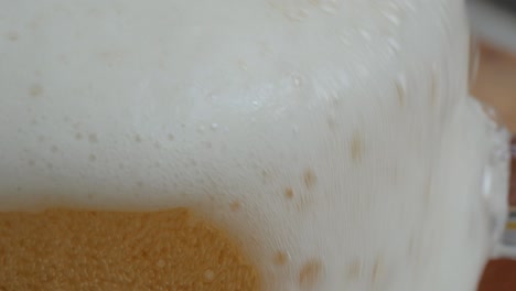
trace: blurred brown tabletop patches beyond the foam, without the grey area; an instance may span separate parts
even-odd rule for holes
[[[516,133],[516,54],[482,45],[479,75],[472,93],[494,106],[507,128]],[[513,169],[515,165],[513,161]],[[515,190],[512,192],[516,193]],[[510,200],[515,203],[516,195]],[[516,261],[490,262],[479,291],[516,291]]]

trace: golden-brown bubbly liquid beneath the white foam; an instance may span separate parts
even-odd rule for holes
[[[184,208],[0,214],[0,290],[259,290],[248,258]]]

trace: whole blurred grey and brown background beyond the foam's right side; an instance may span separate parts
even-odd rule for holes
[[[472,94],[494,106],[516,134],[516,0],[467,1],[473,37],[480,55]],[[513,160],[516,173],[516,160]],[[516,174],[510,201],[516,206]],[[485,269],[479,291],[515,291],[516,261],[494,260]]]

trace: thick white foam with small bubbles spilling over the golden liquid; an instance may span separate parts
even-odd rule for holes
[[[486,149],[462,6],[12,1],[0,209],[196,208],[265,290],[313,258],[314,290],[473,290]]]

